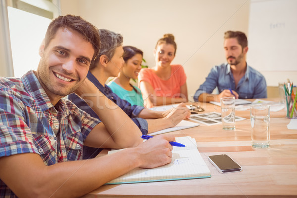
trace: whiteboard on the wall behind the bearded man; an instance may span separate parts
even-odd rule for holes
[[[251,0],[247,63],[268,86],[297,83],[297,0]]]

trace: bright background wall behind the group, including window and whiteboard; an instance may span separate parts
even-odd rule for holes
[[[148,67],[155,66],[157,40],[172,33],[172,63],[185,69],[190,101],[210,69],[226,62],[224,32],[242,31],[247,64],[265,76],[268,97],[277,97],[279,83],[297,82],[296,8],[297,0],[1,0],[0,76],[36,70],[50,21],[74,14],[122,34],[123,45],[144,52]]]

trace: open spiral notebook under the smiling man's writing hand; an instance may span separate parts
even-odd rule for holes
[[[106,184],[128,184],[211,177],[210,170],[197,149],[195,139],[189,136],[178,137],[176,138],[176,142],[182,143],[186,147],[173,147],[173,156],[170,164],[151,169],[135,168]],[[117,151],[109,151],[108,154]]]

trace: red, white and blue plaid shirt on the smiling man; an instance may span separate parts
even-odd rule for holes
[[[0,77],[0,157],[37,153],[46,165],[81,160],[83,142],[99,122],[67,99],[54,107],[33,71]],[[2,180],[0,197],[16,197]]]

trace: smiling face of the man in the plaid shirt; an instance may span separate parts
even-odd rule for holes
[[[94,49],[81,34],[60,28],[47,48],[40,50],[36,76],[49,99],[64,97],[83,83]]]

